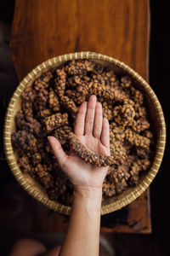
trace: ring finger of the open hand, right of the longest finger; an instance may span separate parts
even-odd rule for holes
[[[100,102],[96,103],[95,116],[94,116],[94,137],[100,138],[102,131],[102,105]]]

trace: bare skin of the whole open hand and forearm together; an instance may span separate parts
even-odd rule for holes
[[[97,102],[96,96],[90,96],[88,102],[83,102],[79,108],[74,133],[83,145],[95,153],[111,154],[109,121],[103,118],[102,105]],[[74,187],[71,218],[59,256],[97,256],[102,184],[108,166],[87,164],[73,150],[69,155],[65,154],[55,137],[48,137],[48,142],[60,168]]]

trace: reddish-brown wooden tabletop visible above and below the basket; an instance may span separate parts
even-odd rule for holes
[[[148,80],[147,0],[15,0],[10,49],[18,79],[50,57],[91,50],[124,61]],[[37,203],[32,229],[65,231],[68,219]],[[150,192],[102,217],[102,231],[150,233]]]

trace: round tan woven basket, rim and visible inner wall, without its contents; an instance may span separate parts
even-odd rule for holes
[[[74,59],[90,59],[103,64],[106,67],[111,67],[116,73],[128,73],[131,78],[133,78],[137,87],[143,90],[146,96],[146,101],[150,108],[150,115],[152,122],[154,124],[154,129],[156,132],[156,154],[153,160],[150,171],[144,173],[140,179],[139,183],[133,188],[127,188],[120,195],[114,195],[109,199],[105,199],[102,202],[101,214],[106,214],[109,212],[114,212],[127,204],[134,201],[139,195],[141,195],[145,189],[147,189],[150,183],[156,177],[156,173],[161,165],[161,160],[164,154],[165,142],[166,142],[166,125],[164,116],[162,113],[160,102],[158,101],[156,94],[150,88],[150,85],[142,79],[138,73],[133,71],[132,68],[128,67],[121,61],[117,61],[107,55],[100,55],[94,52],[79,52],[68,55],[60,55],[59,57],[54,57],[48,61],[42,62],[42,64],[35,67],[31,73],[20,82],[14,95],[12,96],[6,114],[5,124],[4,124],[4,148],[8,160],[8,165],[11,171],[14,173],[14,177],[20,183],[20,185],[26,189],[26,191],[37,201],[41,201],[43,205],[47,206],[54,211],[64,213],[69,215],[71,213],[71,207],[61,205],[58,202],[51,201],[48,199],[47,193],[42,189],[40,184],[33,180],[29,175],[20,171],[17,165],[18,155],[14,152],[11,143],[11,133],[15,131],[14,116],[20,109],[20,94],[27,86],[31,86],[35,79],[42,75],[42,73],[47,72],[49,69],[58,67],[60,64],[65,63],[65,61],[70,61]]]

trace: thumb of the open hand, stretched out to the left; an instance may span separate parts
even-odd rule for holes
[[[59,166],[62,169],[65,166],[65,161],[67,160],[67,155],[65,154],[63,148],[61,147],[61,144],[55,137],[48,136],[48,142],[50,143],[50,146],[51,146],[51,148],[54,152],[54,155],[59,163]]]

